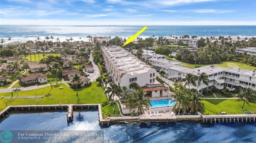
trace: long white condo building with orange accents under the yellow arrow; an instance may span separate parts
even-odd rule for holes
[[[120,46],[102,46],[101,50],[106,69],[116,85],[132,89],[131,83],[137,82],[151,97],[169,96],[169,87],[156,81],[155,68]]]

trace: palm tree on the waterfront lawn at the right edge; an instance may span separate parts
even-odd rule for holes
[[[240,93],[236,95],[236,97],[238,97],[239,99],[236,99],[235,101],[244,101],[244,103],[246,103],[250,107],[250,103],[256,103],[256,96],[253,93],[253,90],[249,87],[246,87],[244,90],[241,90]],[[244,104],[241,108],[244,109]]]

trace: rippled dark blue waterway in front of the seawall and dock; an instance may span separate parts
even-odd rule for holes
[[[7,115],[0,130],[91,130],[104,132],[105,143],[255,143],[253,123],[130,123],[98,125],[97,109],[75,110],[74,120],[67,122],[66,110],[37,110]],[[104,115],[106,116],[106,115]],[[0,141],[1,142],[1,141]],[[35,143],[28,140],[27,143]],[[83,138],[45,140],[49,143],[84,143]],[[96,142],[91,139],[91,142]],[[97,142],[100,143],[100,142]]]

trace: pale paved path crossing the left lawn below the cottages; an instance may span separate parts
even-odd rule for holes
[[[60,83],[66,83],[68,81],[65,82],[58,82],[58,84]],[[52,85],[55,85],[56,83],[52,83]],[[29,87],[20,87],[20,88],[11,88],[11,89],[0,89],[0,92],[13,92],[13,91],[25,91],[25,90],[32,90],[32,89],[39,89],[39,88],[43,88],[43,87],[47,87],[47,86],[51,86],[51,84],[44,84],[44,85],[38,85],[38,86],[29,86]]]

